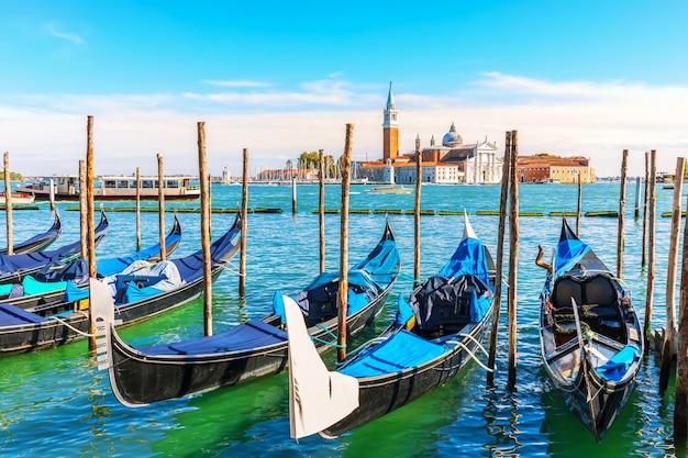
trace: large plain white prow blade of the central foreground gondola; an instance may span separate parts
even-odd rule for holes
[[[282,297],[289,335],[289,425],[298,439],[344,418],[358,406],[358,380],[325,367],[299,305]]]

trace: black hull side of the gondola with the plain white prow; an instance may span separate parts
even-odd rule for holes
[[[470,329],[469,335],[477,342],[485,342],[485,331],[491,323],[492,309],[485,320]],[[476,353],[477,344],[470,338],[462,343]],[[422,366],[370,378],[358,379],[358,407],[340,422],[319,434],[326,438],[337,437],[355,427],[369,423],[411,401],[444,386],[471,360],[465,348],[454,347],[451,351]]]

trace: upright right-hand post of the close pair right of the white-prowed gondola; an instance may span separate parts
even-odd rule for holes
[[[517,369],[517,270],[519,261],[519,133],[511,132],[510,201],[509,201],[509,386],[515,386]]]

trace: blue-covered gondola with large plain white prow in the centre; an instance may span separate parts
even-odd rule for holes
[[[291,437],[340,436],[443,386],[471,360],[491,321],[493,292],[491,258],[465,221],[446,265],[408,302],[400,298],[396,322],[336,371],[328,371],[298,306],[285,298]]]

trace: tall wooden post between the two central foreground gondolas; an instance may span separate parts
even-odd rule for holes
[[[352,166],[352,139],[354,124],[346,124],[346,139],[341,160],[342,171],[342,213],[340,227],[340,289],[337,294],[337,361],[346,359],[346,312],[348,294],[348,186]]]

